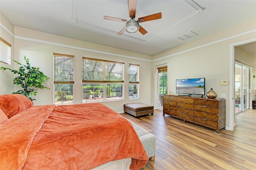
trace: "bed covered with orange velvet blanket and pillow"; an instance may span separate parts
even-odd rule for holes
[[[138,170],[148,162],[132,124],[100,103],[33,106],[6,94],[0,118],[0,169],[89,170],[130,160]]]

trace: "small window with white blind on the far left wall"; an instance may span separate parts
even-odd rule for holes
[[[0,62],[11,64],[11,47],[11,44],[0,37]]]

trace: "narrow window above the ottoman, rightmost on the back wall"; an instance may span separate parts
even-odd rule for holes
[[[129,64],[129,100],[139,98],[139,65]]]

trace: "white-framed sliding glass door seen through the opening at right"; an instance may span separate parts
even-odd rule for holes
[[[235,114],[249,109],[249,70],[248,66],[235,62]]]

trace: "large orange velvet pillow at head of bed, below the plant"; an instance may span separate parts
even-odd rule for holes
[[[34,106],[34,103],[22,94],[0,95],[0,109],[9,119],[32,106]]]

